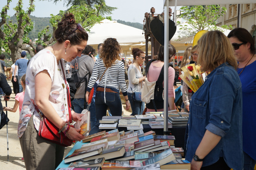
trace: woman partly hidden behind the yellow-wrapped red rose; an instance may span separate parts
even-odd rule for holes
[[[190,55],[192,56],[191,59],[193,59],[193,60],[191,60],[186,65],[193,64],[193,63],[195,63],[195,65],[197,65],[197,58],[198,58],[197,45],[193,46],[193,48],[191,49]],[[188,85],[186,83],[183,83],[182,99],[183,99],[183,103],[185,106],[184,110],[186,112],[189,111],[189,101],[193,94],[194,94],[194,92],[188,87]]]

